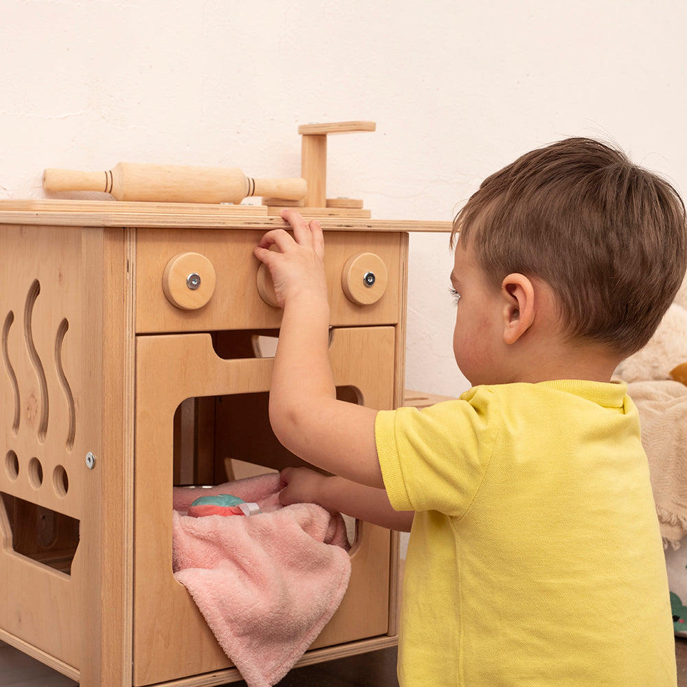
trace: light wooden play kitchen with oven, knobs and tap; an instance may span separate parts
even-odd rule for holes
[[[0,640],[87,687],[240,679],[172,575],[172,487],[225,482],[229,459],[300,464],[269,429],[281,311],[252,255],[286,226],[284,205],[326,231],[339,396],[403,402],[408,232],[450,225],[326,199],[328,135],[372,130],[300,127],[302,177],[231,170],[233,200],[222,170],[120,166],[100,181],[45,174],[46,188],[120,202],[0,201]],[[218,204],[251,188],[272,195]],[[396,642],[396,535],[357,523],[350,557],[341,607],[300,664]]]

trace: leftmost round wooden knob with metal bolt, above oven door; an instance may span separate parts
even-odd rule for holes
[[[202,308],[214,293],[212,262],[199,253],[179,253],[165,267],[162,288],[167,300],[182,310]]]

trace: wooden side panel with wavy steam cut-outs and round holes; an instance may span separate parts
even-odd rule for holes
[[[0,624],[76,671],[83,455],[98,393],[84,361],[82,229],[2,225],[0,256]]]

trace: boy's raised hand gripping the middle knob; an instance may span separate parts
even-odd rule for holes
[[[293,236],[284,229],[267,232],[254,249],[258,260],[269,269],[277,302],[284,308],[289,300],[307,297],[327,297],[324,274],[324,233],[317,220],[309,224],[296,210],[282,210],[293,228]],[[278,251],[269,250],[276,247]]]

